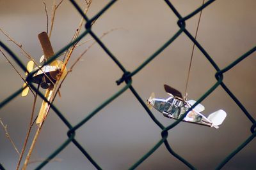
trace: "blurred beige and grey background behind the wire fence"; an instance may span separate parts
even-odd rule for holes
[[[108,2],[93,0],[88,17],[93,17]],[[45,3],[51,18],[52,1]],[[202,1],[175,0],[172,3],[182,16],[186,16],[198,8]],[[84,2],[79,1],[79,4],[82,6]],[[216,1],[203,11],[197,39],[220,68],[228,66],[255,46],[255,7],[256,1],[253,0],[227,0]],[[186,28],[193,35],[198,17],[199,15],[196,15],[186,22]],[[55,52],[70,41],[80,18],[69,1],[61,4],[56,13],[51,38]],[[97,20],[93,25],[93,31],[97,36],[101,36],[110,29],[118,28],[105,36],[102,41],[128,71],[133,71],[179,30],[176,23],[177,17],[164,1],[123,0],[111,6]],[[0,27],[39,61],[42,51],[37,34],[46,29],[42,1],[0,0]],[[28,62],[19,48],[7,41],[3,34],[0,34],[0,39],[19,55],[22,62]],[[81,41],[86,39],[90,39],[90,36],[86,36]],[[70,63],[74,62],[79,53],[83,52],[90,43],[79,46]],[[184,93],[192,46],[193,43],[188,37],[181,34],[132,78],[134,89],[144,101],[151,92],[155,92],[156,97],[167,97],[163,89],[164,83]],[[23,82],[4,57],[0,56],[0,100],[3,101],[19,89]],[[255,64],[256,57],[253,53],[234,69],[225,73],[223,80],[254,118],[256,118]],[[214,74],[211,64],[195,48],[188,98],[196,100],[210,89],[216,82]],[[115,83],[121,76],[122,71],[109,56],[99,45],[94,45],[68,76],[61,87],[61,98],[58,97],[55,104],[70,123],[76,125],[99,104],[124,87],[124,84],[116,86]],[[36,104],[36,113],[41,101],[38,100]],[[22,148],[28,129],[32,103],[32,94],[24,98],[19,96],[0,110],[0,117],[8,125],[8,131],[19,150]],[[196,168],[214,169],[251,135],[252,124],[221,87],[214,90],[202,104],[205,106],[203,112],[205,115],[219,109],[227,112],[227,118],[220,129],[180,123],[169,131],[168,141],[175,152]],[[164,125],[173,123],[173,120],[163,117],[156,110],[152,112]],[[32,135],[35,134],[35,129],[34,127]],[[31,160],[45,159],[66,139],[67,127],[53,111],[50,111]],[[84,124],[76,132],[76,139],[103,169],[127,169],[156,145],[161,139],[161,129],[150,119],[131,91],[127,90]],[[29,144],[30,142],[31,140]],[[255,169],[255,149],[254,139],[223,169]],[[95,169],[72,143],[56,158],[61,159],[61,162],[51,162],[44,169]],[[0,128],[1,164],[6,169],[14,169],[17,160],[17,153]],[[29,164],[28,169],[33,169],[37,165],[38,163]],[[161,145],[138,167],[138,169],[178,168],[188,169],[170,155],[164,145]]]

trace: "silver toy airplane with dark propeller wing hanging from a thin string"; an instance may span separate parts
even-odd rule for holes
[[[179,119],[186,111],[196,103],[194,100],[186,101],[183,99],[182,94],[168,85],[164,85],[164,90],[170,95],[167,99],[158,99],[154,97],[154,93],[147,99],[148,108],[154,107],[157,111],[163,113],[164,117]],[[202,104],[197,104],[186,117],[183,122],[193,124],[206,125],[209,127],[219,128],[219,125],[225,120],[227,113],[223,110],[211,113],[209,117],[205,117],[200,113],[205,108]]]

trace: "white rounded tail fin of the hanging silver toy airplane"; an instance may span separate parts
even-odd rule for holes
[[[224,110],[218,110],[218,111],[215,111],[214,113],[211,113],[208,119],[211,120],[212,127],[215,127],[216,129],[218,129],[219,128],[218,125],[222,124],[226,116],[227,116],[227,113]]]

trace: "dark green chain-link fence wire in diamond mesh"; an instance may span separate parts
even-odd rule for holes
[[[183,162],[184,164],[186,164],[186,166],[188,166],[190,169],[196,169],[187,160],[185,160],[178,153],[175,153],[172,150],[172,147],[170,146],[170,144],[168,143],[168,140],[167,140],[168,131],[170,131],[173,127],[175,127],[177,124],[179,124],[180,121],[184,117],[186,117],[186,114],[192,108],[194,108],[196,106],[196,104],[202,102],[207,96],[209,96],[209,94],[211,94],[211,92],[213,92],[219,86],[221,86],[225,90],[225,92],[227,92],[228,96],[230,96],[236,102],[237,106],[239,106],[239,108],[241,108],[244,115],[246,115],[246,117],[250,120],[250,122],[252,122],[252,127],[250,128],[250,131],[252,132],[252,134],[251,134],[251,136],[248,137],[248,139],[246,139],[243,143],[241,143],[241,145],[239,145],[232,153],[230,153],[230,155],[228,155],[216,167],[216,169],[221,169],[223,166],[225,166],[225,164],[227,164],[227,162],[230,159],[232,159],[232,157],[234,157],[234,155],[236,155],[239,151],[241,151],[244,148],[244,146],[248,145],[248,143],[250,143],[255,138],[255,136],[256,136],[256,122],[255,122],[255,119],[252,117],[252,115],[250,115],[250,113],[248,113],[246,108],[244,108],[244,106],[240,103],[240,101],[237,99],[237,97],[234,96],[234,94],[232,94],[232,92],[225,85],[225,83],[223,82],[223,74],[226,73],[227,71],[229,71],[230,69],[232,69],[233,67],[235,67],[243,59],[250,56],[250,54],[255,52],[256,46],[254,46],[252,49],[248,50],[248,52],[241,55],[241,57],[234,60],[234,62],[230,63],[227,67],[225,67],[223,69],[220,69],[220,67],[214,62],[214,60],[211,58],[211,56],[204,50],[203,46],[200,45],[200,43],[198,43],[198,41],[196,41],[196,39],[186,29],[186,21],[189,20],[191,17],[195,16],[200,11],[202,11],[204,8],[207,8],[207,6],[209,6],[212,2],[214,2],[214,0],[207,1],[205,4],[203,4],[202,6],[200,6],[195,11],[193,11],[192,13],[190,13],[189,15],[187,15],[185,17],[182,17],[180,15],[179,11],[176,10],[175,6],[173,6],[173,4],[170,1],[168,1],[168,0],[164,0],[164,1],[165,1],[166,5],[169,6],[169,8],[172,10],[172,12],[176,15],[176,17],[178,19],[177,25],[179,25],[180,29],[168,41],[166,41],[166,43],[164,43],[164,45],[161,46],[161,48],[157,49],[156,52],[154,52],[150,57],[148,57],[147,60],[145,60],[139,67],[137,67],[134,71],[130,72],[130,71],[127,71],[127,69],[125,69],[125,67],[118,61],[117,57],[115,57],[113,55],[113,53],[111,53],[109,51],[109,49],[104,45],[104,43],[102,43],[102,41],[100,41],[100,38],[91,29],[93,21],[95,21],[97,18],[99,18],[102,14],[104,14],[105,11],[107,11],[113,4],[115,4],[116,0],[113,0],[113,1],[109,2],[106,6],[104,6],[104,8],[102,8],[102,10],[99,11],[99,13],[97,13],[92,18],[88,18],[86,15],[84,15],[83,11],[79,7],[79,5],[76,3],[76,1],[70,0],[70,2],[73,4],[73,6],[76,8],[76,10],[79,11],[79,13],[83,16],[84,20],[86,20],[86,24],[84,25],[86,30],[77,39],[75,39],[72,43],[69,43],[67,46],[63,47],[59,52],[57,52],[54,56],[52,56],[51,59],[47,60],[47,62],[45,62],[44,65],[49,64],[54,59],[57,59],[58,56],[60,56],[61,53],[65,52],[65,50],[67,50],[70,46],[74,45],[74,43],[76,43],[77,41],[82,39],[84,36],[90,34],[93,37],[93,39],[95,39],[95,41],[97,41],[97,43],[102,47],[102,49],[109,55],[109,57],[115,62],[116,66],[118,66],[124,72],[123,76],[119,80],[116,81],[116,84],[120,85],[121,83],[126,83],[126,85],[124,86],[124,88],[122,88],[120,91],[116,92],[116,94],[114,94],[108,100],[104,101],[104,103],[102,103],[100,106],[95,108],[95,110],[92,111],[92,113],[90,113],[83,120],[81,120],[81,122],[79,122],[79,124],[76,124],[74,126],[72,126],[68,122],[68,120],[63,116],[63,114],[58,110],[58,108],[56,108],[56,106],[54,106],[54,104],[51,104],[51,108],[54,111],[54,113],[56,113],[58,115],[58,117],[63,121],[63,123],[65,125],[67,125],[67,127],[69,129],[69,131],[67,132],[68,138],[59,148],[57,148],[51,155],[49,155],[49,157],[47,159],[45,159],[38,167],[36,167],[36,169],[41,169],[42,167],[44,167],[45,164],[49,163],[49,160],[56,157],[56,155],[58,155],[58,153],[60,153],[62,150],[64,150],[70,143],[74,143],[74,145],[77,146],[77,148],[84,154],[84,156],[88,160],[90,160],[90,162],[93,164],[93,166],[95,166],[97,169],[102,169],[100,167],[100,164],[97,164],[97,160],[93,159],[93,157],[91,157],[88,154],[88,152],[86,152],[86,150],[76,140],[76,131],[81,126],[86,124],[86,122],[88,120],[90,120],[90,118],[92,118],[94,115],[99,113],[99,111],[102,110],[102,108],[104,108],[109,103],[114,101],[118,96],[122,95],[125,92],[125,90],[128,90],[128,89],[131,90],[132,94],[134,94],[136,99],[138,99],[141,106],[147,111],[150,118],[152,118],[152,120],[161,129],[161,136],[162,136],[162,138],[156,143],[156,145],[154,145],[151,150],[149,150],[145,155],[143,155],[143,157],[141,157],[140,160],[135,162],[129,169],[135,169],[136,167],[138,167],[144,160],[146,160],[152,153],[154,153],[157,150],[157,148],[159,148],[159,146],[161,146],[163,144],[166,146],[166,149],[168,150],[168,152],[170,152],[170,154],[173,155],[173,157],[175,157],[176,159],[178,159],[181,162]],[[193,43],[195,43],[195,45],[200,50],[200,52],[202,52],[204,54],[204,57],[211,63],[212,67],[214,67],[214,69],[216,70],[216,74],[215,74],[216,83],[209,90],[207,90],[207,92],[205,92],[205,94],[203,96],[201,96],[200,99],[198,99],[198,101],[192,106],[192,108],[190,108],[182,117],[180,117],[179,120],[177,120],[177,121],[173,122],[173,124],[165,127],[163,124],[161,124],[154,117],[152,112],[150,110],[148,110],[148,107],[145,105],[145,102],[138,95],[138,93],[136,92],[134,87],[132,87],[132,76],[134,76],[139,71],[141,71],[141,69],[143,69],[143,67],[145,67],[154,58],[156,58],[159,55],[159,53],[163,52],[163,50],[167,46],[171,45],[172,42],[176,38],[178,38],[180,36],[180,34],[182,34],[182,32],[184,32],[184,34],[186,34],[186,36],[188,36],[188,38],[191,41],[193,41]],[[4,50],[6,50],[6,52],[9,53],[10,56],[12,56],[12,58],[15,60],[15,62],[17,62],[17,64],[21,67],[21,69],[23,69],[23,71],[26,71],[26,66],[24,66],[24,64],[22,64],[22,62],[20,62],[19,57],[17,57],[17,55],[15,55],[15,53],[13,53],[12,50],[10,50],[10,48],[8,48],[8,46],[6,46],[2,41],[0,41],[0,45],[4,48]],[[31,86],[31,89],[36,91],[36,87],[29,81],[29,80],[31,80],[31,76],[34,73],[35,73],[35,71],[33,71],[32,73],[29,73],[27,80],[28,80],[29,85]],[[11,96],[9,96],[6,99],[4,99],[3,101],[1,101],[0,108],[3,108],[4,105],[10,103],[10,101],[12,101],[12,99],[19,96],[19,94],[22,92],[22,90],[23,90],[23,88],[17,90]],[[39,91],[38,91],[38,95],[42,99],[44,99],[45,101],[47,100],[44,97],[44,94],[42,94]],[[1,164],[0,164],[0,169],[4,169],[3,165],[1,165]]]

